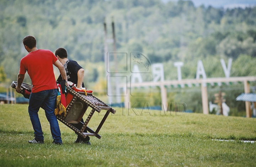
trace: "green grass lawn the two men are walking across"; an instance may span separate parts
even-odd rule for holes
[[[59,123],[63,145],[53,145],[44,111],[39,118],[44,144],[29,144],[33,129],[27,105],[0,105],[0,166],[255,166],[256,119],[196,113],[143,116],[115,108],[91,145],[74,144],[76,135]],[[137,109],[138,113],[142,111]],[[103,112],[103,111],[102,111]],[[129,113],[129,115],[128,115]],[[92,117],[96,129],[103,113]],[[232,139],[235,141],[213,141]]]

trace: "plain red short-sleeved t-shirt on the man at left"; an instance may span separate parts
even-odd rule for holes
[[[57,89],[53,64],[58,58],[50,50],[38,49],[27,54],[20,62],[20,74],[28,72],[32,81],[32,93]]]

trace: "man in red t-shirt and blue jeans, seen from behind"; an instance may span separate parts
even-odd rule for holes
[[[32,35],[23,38],[22,42],[28,54],[23,57],[20,62],[16,91],[20,93],[25,73],[28,72],[33,85],[28,105],[28,113],[35,136],[35,138],[29,140],[28,143],[44,143],[43,131],[38,118],[39,108],[43,105],[47,120],[50,123],[53,143],[61,145],[62,138],[60,137],[59,124],[54,114],[57,84],[55,82],[53,65],[59,69],[62,78],[67,81],[65,69],[52,51],[36,48],[36,38]]]

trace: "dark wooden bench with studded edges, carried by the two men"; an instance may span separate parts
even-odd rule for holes
[[[12,88],[17,87],[17,82],[13,81],[11,84]],[[21,84],[22,94],[25,97],[25,90],[28,92],[31,92],[33,86],[27,83]],[[86,136],[95,136],[96,138],[100,139],[101,135],[98,134],[100,131],[102,125],[106,121],[108,115],[111,113],[115,114],[116,110],[108,106],[105,102],[101,101],[100,99],[96,98],[92,93],[87,93],[85,95],[85,92],[76,92],[71,88],[66,88],[67,95],[71,96],[71,100],[69,104],[66,106],[66,116],[64,114],[57,115],[57,119],[64,123],[67,127],[74,130],[74,132],[81,137],[85,138]],[[70,94],[70,95],[68,95]],[[73,97],[72,97],[73,96]],[[26,96],[25,98],[28,98],[29,96]],[[80,122],[82,117],[84,116],[86,110],[88,108],[91,108],[91,112],[87,116],[87,119],[84,120],[84,123]],[[44,106],[41,106],[41,108],[44,108]],[[91,128],[87,126],[89,121],[91,120],[92,115],[96,112],[100,113],[101,110],[107,110],[105,116],[102,118],[100,124],[98,125],[97,129],[94,131]],[[82,123],[83,126],[81,129],[77,129],[72,124]],[[84,130],[87,130],[88,133],[84,133]]]

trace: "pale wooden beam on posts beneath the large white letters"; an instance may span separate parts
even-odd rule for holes
[[[250,84],[249,82],[256,81],[256,76],[250,77],[229,77],[229,78],[207,78],[207,79],[182,79],[182,80],[165,80],[159,82],[143,82],[143,83],[130,83],[127,85],[127,95],[124,96],[125,107],[128,108],[130,102],[130,93],[129,88],[139,88],[139,87],[154,87],[158,86],[161,89],[161,102],[164,110],[167,110],[167,91],[166,87],[170,85],[199,85],[201,84],[201,94],[202,94],[202,106],[203,113],[209,114],[209,106],[208,106],[208,94],[207,94],[207,84],[212,83],[235,83],[242,82],[244,83],[244,93],[250,93]],[[122,85],[124,87],[126,85]],[[250,102],[245,102],[246,107],[246,117],[251,117],[251,108]]]

